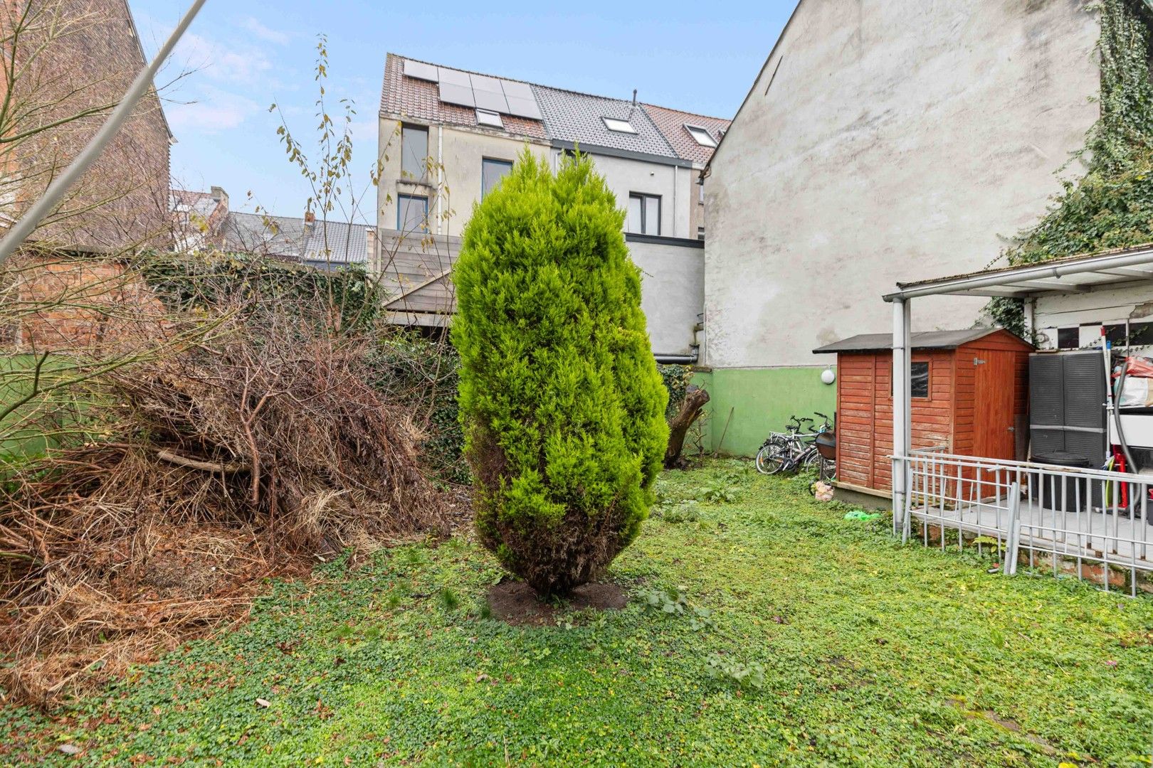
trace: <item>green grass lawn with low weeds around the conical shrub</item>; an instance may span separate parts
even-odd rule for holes
[[[53,720],[0,710],[0,762],[1151,765],[1153,599],[900,548],[747,463],[660,491],[621,611],[485,618],[465,539],[326,564]]]

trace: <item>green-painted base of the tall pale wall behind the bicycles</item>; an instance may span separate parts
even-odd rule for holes
[[[783,429],[794,413],[815,418],[813,412],[821,411],[831,418],[837,408],[837,385],[822,382],[822,371],[819,367],[714,368],[694,374],[694,383],[709,393],[708,433],[713,450],[754,456],[769,432]]]

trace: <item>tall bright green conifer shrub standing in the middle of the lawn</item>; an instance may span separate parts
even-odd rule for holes
[[[597,578],[636,538],[669,439],[623,225],[587,158],[553,176],[526,151],[453,268],[476,529],[541,594]]]

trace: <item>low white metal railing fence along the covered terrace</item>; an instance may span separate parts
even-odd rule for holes
[[[1153,584],[1153,477],[957,456],[944,448],[894,462],[905,464],[905,501],[892,516],[903,540],[917,520],[926,546],[944,549],[954,537],[962,549],[995,546],[1010,575],[1025,552],[1031,568],[1072,572],[1106,590],[1136,595],[1141,580]]]

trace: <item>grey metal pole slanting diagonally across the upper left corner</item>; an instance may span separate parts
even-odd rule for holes
[[[108,145],[108,142],[120,132],[120,128],[128,120],[133,109],[136,108],[136,102],[141,100],[141,97],[148,92],[148,89],[152,85],[152,81],[156,78],[157,71],[159,71],[160,66],[165,62],[172,50],[176,46],[176,43],[183,36],[184,30],[188,25],[193,23],[196,18],[196,14],[199,13],[201,6],[203,6],[205,0],[194,0],[193,6],[184,14],[184,17],[180,20],[176,24],[176,29],[172,30],[172,35],[165,41],[164,46],[157,52],[156,56],[152,59],[148,67],[141,70],[136,75],[136,79],[128,88],[128,92],[125,93],[125,98],[120,100],[116,108],[113,109],[112,115],[108,117],[107,122],[100,127],[100,130],[96,132],[92,140],[88,143],[76,159],[71,161],[71,165],[65,168],[65,172],[60,174],[55,181],[53,181],[48,189],[32,207],[21,216],[8,234],[5,235],[3,239],[0,239],[0,264],[8,260],[13,253],[16,252],[24,241],[28,239],[29,235],[39,226],[44,219],[52,213],[52,210],[56,207],[56,204],[65,196],[68,189],[76,183],[76,181],[88,170],[89,166],[100,157],[104,152],[104,147]],[[167,182],[166,182],[167,183]]]

